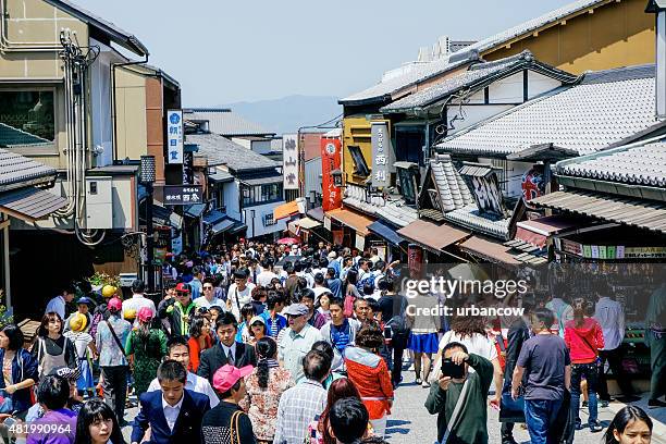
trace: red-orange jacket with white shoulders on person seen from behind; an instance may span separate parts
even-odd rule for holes
[[[347,378],[358,390],[370,419],[391,415],[393,384],[384,359],[362,348],[348,347],[345,350],[345,365]]]

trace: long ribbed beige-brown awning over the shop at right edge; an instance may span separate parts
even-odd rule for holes
[[[591,192],[556,192],[530,205],[666,233],[666,203]]]

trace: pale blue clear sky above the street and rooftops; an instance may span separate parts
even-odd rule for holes
[[[73,0],[136,35],[185,106],[345,95],[439,36],[481,39],[569,0]]]

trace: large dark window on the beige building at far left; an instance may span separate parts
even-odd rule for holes
[[[0,90],[0,146],[53,147],[52,89]]]

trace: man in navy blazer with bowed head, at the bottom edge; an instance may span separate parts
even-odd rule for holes
[[[134,420],[132,443],[140,443],[150,427],[151,444],[198,443],[201,418],[210,410],[208,396],[185,390],[187,371],[175,360],[158,369],[159,391],[141,393],[141,410]]]

